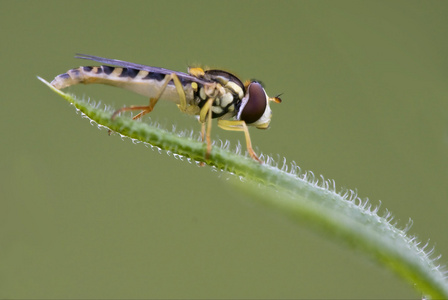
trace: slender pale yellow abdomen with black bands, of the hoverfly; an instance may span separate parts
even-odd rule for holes
[[[157,96],[165,74],[148,72],[133,68],[119,68],[111,66],[79,67],[58,75],[52,82],[57,89],[63,89],[79,83],[100,83],[116,86],[143,95],[148,98]],[[191,85],[184,85],[187,102],[193,98]],[[170,82],[162,94],[164,100],[178,103],[179,95],[173,82]]]

